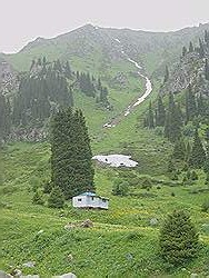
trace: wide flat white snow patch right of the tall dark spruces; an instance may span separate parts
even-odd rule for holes
[[[137,161],[131,160],[130,156],[125,155],[94,156],[92,159],[107,163],[111,167],[136,167],[138,165]]]

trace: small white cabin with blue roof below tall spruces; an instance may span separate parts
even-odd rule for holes
[[[100,197],[93,192],[83,192],[72,198],[74,208],[99,208],[108,209],[109,199]]]

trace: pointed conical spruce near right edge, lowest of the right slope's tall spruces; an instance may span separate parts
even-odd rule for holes
[[[198,129],[196,129],[191,155],[189,158],[189,166],[192,168],[202,168],[206,162],[206,152],[199,137]]]

